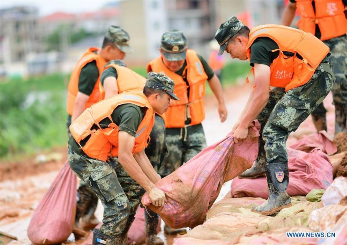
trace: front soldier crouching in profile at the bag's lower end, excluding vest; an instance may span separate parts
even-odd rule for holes
[[[178,99],[173,91],[174,82],[170,78],[158,73],[148,74],[144,94],[154,111],[163,113],[170,104],[170,98]],[[119,133],[119,145],[127,145],[128,142],[134,141],[135,135],[141,134],[143,130],[138,132],[138,126],[145,113],[146,111],[141,107],[131,103],[121,104],[113,110],[112,121],[119,126],[120,133],[126,133],[122,134],[122,138]],[[101,128],[108,128],[110,119],[106,117],[97,123]],[[74,123],[71,127],[74,128]],[[127,160],[125,152],[122,152],[122,158],[114,157],[105,162],[89,157],[80,145],[86,142],[77,143],[74,136],[73,133],[69,140],[70,167],[99,197],[104,206],[103,225],[100,229],[94,229],[93,244],[126,244],[127,232],[134,221],[136,209],[145,189],[149,192],[154,205],[164,205],[165,194],[154,186],[160,177],[152,166],[151,169],[146,169],[150,163],[148,159],[146,160],[147,157],[142,153],[143,151],[134,155],[131,152],[128,153],[130,159]],[[134,143],[131,147],[134,147]],[[129,151],[131,150],[129,148]]]

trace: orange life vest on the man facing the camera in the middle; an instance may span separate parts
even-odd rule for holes
[[[186,55],[187,66],[184,75],[187,75],[187,83],[183,77],[169,70],[158,57],[147,65],[147,72],[154,71],[170,77],[174,83],[174,93],[180,99],[172,100],[171,105],[165,112],[167,128],[182,128],[187,118],[191,118],[189,125],[200,124],[205,119],[203,96],[206,90],[206,79],[201,61],[194,50],[188,49]],[[187,88],[189,87],[189,98]]]

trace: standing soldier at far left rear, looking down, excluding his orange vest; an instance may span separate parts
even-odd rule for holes
[[[119,26],[110,26],[104,37],[102,48],[99,49],[99,51],[94,52],[99,54],[99,56],[101,56],[105,61],[124,59],[126,53],[133,52],[129,47],[128,42],[129,35],[126,31]],[[98,85],[95,86],[95,83],[99,83],[101,71],[96,66],[95,60],[93,60],[82,67],[79,72],[78,94],[76,96],[75,104],[81,108],[76,110],[75,106],[72,115],[68,115],[66,126],[69,137],[71,136],[69,130],[71,119],[76,119],[84,110],[85,102],[87,101],[84,98],[88,98],[87,96],[91,95],[95,87],[96,89],[99,88]],[[97,205],[98,197],[90,191],[90,188],[82,180],[77,190],[75,226],[78,228],[80,227],[79,221],[81,218],[81,225],[83,228],[93,229],[99,223],[99,220],[94,216]]]

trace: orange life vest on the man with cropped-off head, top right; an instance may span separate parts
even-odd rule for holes
[[[312,6],[315,4],[315,11]],[[300,20],[296,24],[304,32],[315,34],[316,24],[321,31],[321,40],[346,34],[345,6],[341,0],[296,0]]]

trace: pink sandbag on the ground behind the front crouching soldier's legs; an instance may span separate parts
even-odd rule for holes
[[[128,232],[128,244],[143,244],[146,240],[146,231],[145,231],[145,209],[137,208],[135,214],[135,220],[130,226]],[[160,231],[161,219],[159,218],[158,226],[156,227],[156,232]]]

